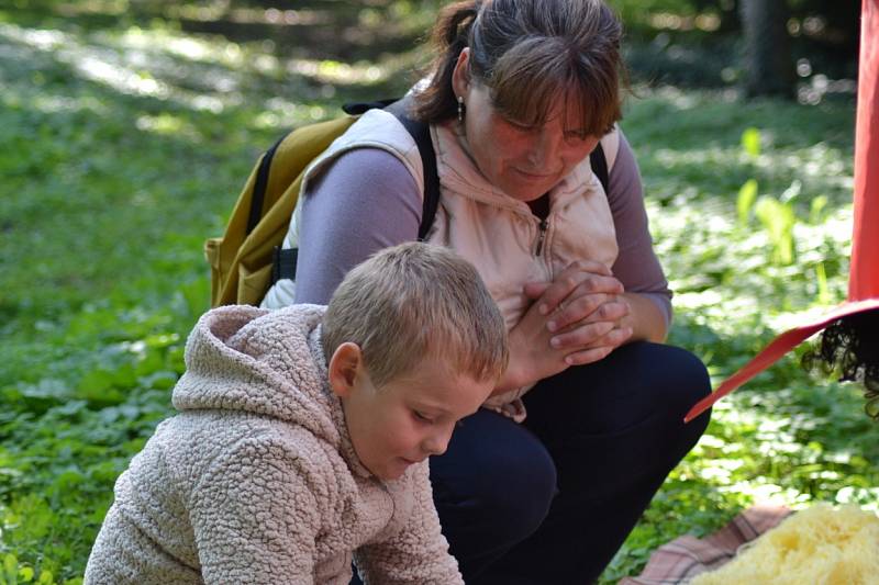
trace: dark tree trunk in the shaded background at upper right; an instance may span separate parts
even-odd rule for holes
[[[739,0],[748,95],[793,97],[786,0]]]

